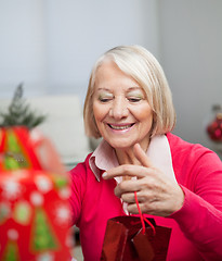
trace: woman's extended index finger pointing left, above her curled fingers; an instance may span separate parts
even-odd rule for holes
[[[139,165],[131,165],[131,164],[125,164],[125,165],[119,165],[116,167],[113,167],[106,172],[103,173],[103,178],[104,179],[109,179],[118,176],[136,176],[139,178],[146,176],[145,172],[147,170],[144,166],[139,166]]]

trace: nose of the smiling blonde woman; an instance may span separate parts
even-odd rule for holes
[[[113,116],[116,120],[121,120],[122,117],[128,116],[128,104],[125,98],[115,98],[110,110],[109,116]]]

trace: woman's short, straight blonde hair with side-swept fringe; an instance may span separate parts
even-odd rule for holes
[[[93,114],[93,94],[97,69],[105,61],[113,61],[144,89],[154,115],[149,135],[171,132],[175,125],[175,111],[171,90],[160,64],[141,46],[119,46],[99,58],[92,69],[83,109],[86,134],[89,137],[101,137]]]

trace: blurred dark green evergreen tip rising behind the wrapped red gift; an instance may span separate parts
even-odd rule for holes
[[[23,84],[17,86],[8,112],[0,112],[0,127],[24,125],[30,129],[41,124],[44,120],[45,115],[37,115],[23,98]]]

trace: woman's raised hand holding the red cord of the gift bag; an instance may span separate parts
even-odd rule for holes
[[[139,144],[134,145],[133,152],[141,165],[119,165],[103,175],[104,179],[117,176],[136,177],[136,179],[123,179],[115,188],[115,195],[128,203],[128,211],[132,214],[139,213],[134,191],[142,213],[168,216],[180,210],[184,194],[178,183],[156,169]]]

